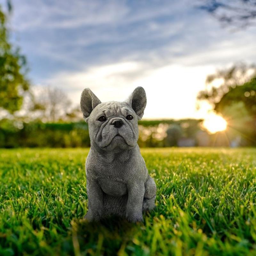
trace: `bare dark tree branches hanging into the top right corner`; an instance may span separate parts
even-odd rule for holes
[[[256,0],[203,0],[199,9],[212,14],[221,24],[246,27],[256,25]]]

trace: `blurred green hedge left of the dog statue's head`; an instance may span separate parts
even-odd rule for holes
[[[0,147],[89,147],[88,125],[79,123],[15,123],[5,121],[0,128]],[[20,128],[18,128],[18,127]]]

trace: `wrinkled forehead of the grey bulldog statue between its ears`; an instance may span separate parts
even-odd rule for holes
[[[124,102],[118,101],[109,101],[99,104],[97,109],[98,111],[102,111],[106,116],[127,116],[132,113],[132,108]],[[97,108],[96,107],[96,108]]]

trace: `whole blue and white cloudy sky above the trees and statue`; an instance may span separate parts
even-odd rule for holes
[[[5,3],[6,1],[0,1]],[[12,0],[11,39],[27,56],[34,86],[89,87],[102,101],[147,94],[145,119],[205,118],[205,78],[256,59],[256,27],[223,28],[199,1]]]

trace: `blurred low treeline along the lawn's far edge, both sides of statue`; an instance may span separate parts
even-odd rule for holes
[[[202,128],[202,120],[142,120],[139,121],[140,147],[211,147],[255,146],[254,140],[241,132],[227,130],[209,134]],[[1,120],[0,148],[18,147],[90,147],[88,125],[73,123],[43,123]]]

